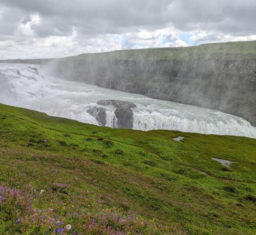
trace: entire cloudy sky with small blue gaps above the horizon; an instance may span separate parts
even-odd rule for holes
[[[0,59],[256,40],[256,0],[0,0]]]

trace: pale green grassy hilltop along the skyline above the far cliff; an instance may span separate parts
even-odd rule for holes
[[[191,59],[195,57],[206,58],[205,56],[218,59],[245,59],[255,58],[256,55],[256,41],[233,41],[221,42],[216,44],[203,44],[193,47],[178,47],[178,48],[148,48],[148,49],[135,49],[135,50],[120,50],[103,53],[87,53],[77,56],[69,56],[59,59],[13,59],[13,60],[0,60],[0,62],[11,63],[44,63],[48,60],[66,60],[74,59],[80,60],[83,58],[89,60],[143,60],[145,58],[152,60],[161,59]]]

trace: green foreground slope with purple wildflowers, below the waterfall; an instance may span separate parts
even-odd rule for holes
[[[255,139],[113,130],[0,104],[0,232],[253,234],[255,156]]]

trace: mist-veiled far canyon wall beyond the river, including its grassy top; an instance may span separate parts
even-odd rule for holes
[[[65,79],[213,108],[256,126],[256,41],[82,54],[40,63]]]

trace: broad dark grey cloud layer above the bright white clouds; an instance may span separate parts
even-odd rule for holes
[[[0,6],[38,13],[38,36],[124,33],[173,25],[179,30],[216,30],[239,35],[255,33],[255,0],[0,0]],[[15,16],[14,16],[15,17]]]

